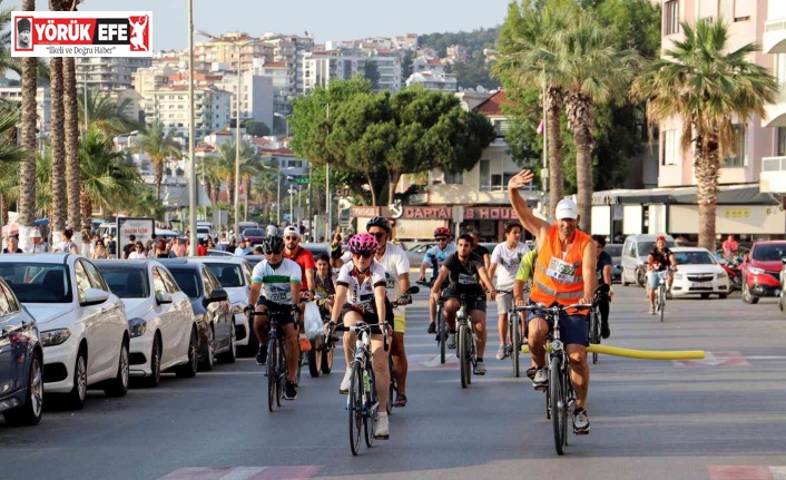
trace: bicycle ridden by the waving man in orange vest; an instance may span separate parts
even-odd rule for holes
[[[551,320],[554,325],[552,333],[547,336],[550,349],[546,351],[544,369],[549,378],[546,390],[546,418],[551,419],[554,447],[558,454],[564,454],[568,447],[568,413],[576,409],[576,391],[570,381],[570,360],[568,352],[560,340],[560,315],[564,310],[591,308],[592,304],[574,303],[572,305],[556,305],[547,307],[543,304],[517,306],[519,311],[537,311],[543,317]]]

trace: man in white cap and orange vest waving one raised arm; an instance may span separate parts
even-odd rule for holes
[[[576,203],[570,199],[560,200],[554,208],[556,223],[549,225],[534,216],[521,195],[519,188],[532,182],[534,175],[522,170],[508,183],[508,196],[522,225],[537,238],[538,261],[530,291],[530,303],[546,305],[570,305],[573,303],[592,303],[595,296],[595,275],[597,251],[589,235],[578,229],[579,213]],[[584,272],[587,273],[584,275]],[[536,389],[548,384],[548,375],[543,370],[546,362],[546,336],[552,325],[549,325],[540,314],[530,312],[528,315],[528,344],[536,365],[532,380]],[[567,312],[560,317],[562,342],[570,357],[570,379],[576,390],[576,410],[573,410],[573,432],[587,434],[590,430],[587,415],[587,391],[589,389],[589,364],[587,363],[588,323],[587,314]]]

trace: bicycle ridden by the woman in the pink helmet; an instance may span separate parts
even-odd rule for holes
[[[332,326],[328,336],[333,332],[353,332],[357,335],[355,340],[355,357],[352,361],[352,373],[350,375],[350,395],[346,401],[346,409],[350,412],[350,449],[353,455],[357,455],[361,447],[361,430],[365,437],[367,448],[374,445],[374,418],[380,408],[380,400],[376,396],[374,369],[372,368],[371,335],[382,333],[383,345],[387,352],[387,324],[382,329],[380,325],[371,325],[358,321],[353,326]]]

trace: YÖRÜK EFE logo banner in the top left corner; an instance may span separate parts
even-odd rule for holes
[[[153,57],[153,12],[11,12],[12,57]]]

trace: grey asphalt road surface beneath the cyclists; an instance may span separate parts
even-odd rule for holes
[[[298,398],[268,413],[253,360],[196,379],[166,375],[120,400],[91,393],[82,411],[48,409],[36,428],[0,420],[0,479],[784,479],[786,319],[774,300],[745,305],[675,300],[660,323],[643,290],[616,286],[608,344],[709,352],[705,361],[602,356],[592,366],[588,437],[553,448],[543,394],[510,362],[462,390],[455,363],[436,366],[425,294],[407,311],[410,403],[391,439],[348,448],[346,398],[333,374],[304,373]],[[490,308],[492,312],[495,307]]]

